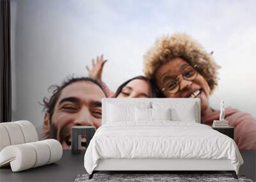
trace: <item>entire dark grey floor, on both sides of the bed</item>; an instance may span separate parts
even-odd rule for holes
[[[240,151],[244,159],[239,174],[256,181],[256,151]],[[0,181],[74,181],[78,174],[86,173],[83,165],[84,152],[72,155],[71,151],[63,151],[57,163],[44,165],[21,172],[12,172],[10,167],[0,169]]]

